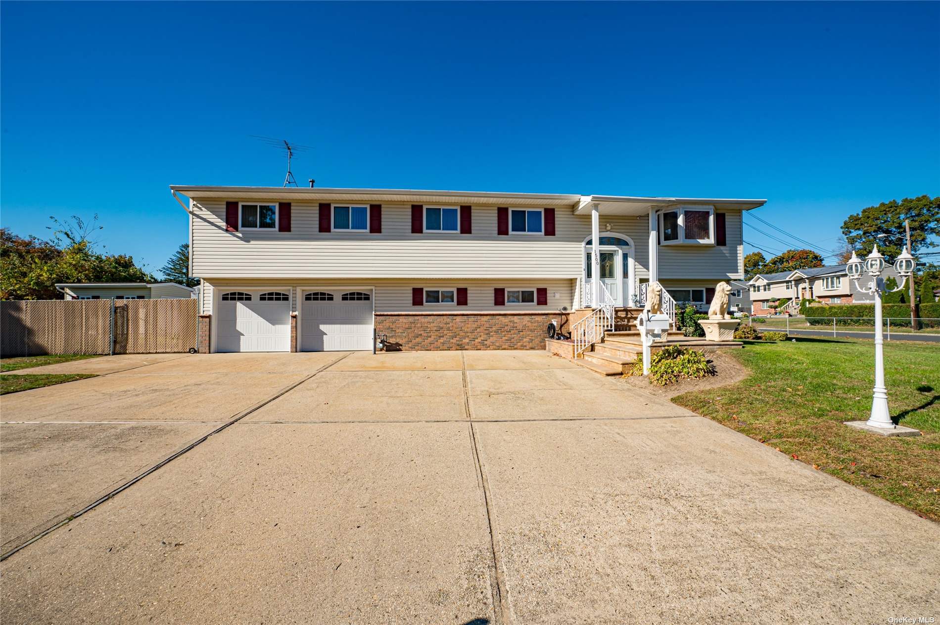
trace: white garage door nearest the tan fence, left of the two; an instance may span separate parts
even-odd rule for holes
[[[216,292],[216,352],[290,352],[290,290]]]

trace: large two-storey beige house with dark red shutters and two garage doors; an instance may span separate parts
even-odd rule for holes
[[[765,200],[171,186],[207,352],[544,349],[598,293],[707,305]],[[188,202],[180,198],[186,195]],[[597,299],[593,301],[597,302]]]

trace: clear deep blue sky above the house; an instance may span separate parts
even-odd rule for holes
[[[851,212],[940,195],[940,3],[0,13],[0,223],[97,212],[151,271],[186,241],[168,184],[280,185],[252,134],[316,148],[301,184],[766,197],[824,249]]]

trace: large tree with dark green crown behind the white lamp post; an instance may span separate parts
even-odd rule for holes
[[[911,224],[911,253],[917,256],[917,250],[930,246],[930,238],[940,234],[940,195],[905,197],[900,202],[892,199],[862,209],[849,215],[842,224],[842,234],[858,252],[859,258],[870,254],[877,242],[881,253],[893,261],[905,244],[904,220]]]

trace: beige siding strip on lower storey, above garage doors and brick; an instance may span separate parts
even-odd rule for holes
[[[203,312],[211,314],[211,300],[215,293],[224,293],[229,290],[272,288],[293,290],[291,309],[296,311],[299,302],[303,301],[302,292],[317,290],[318,288],[337,290],[348,287],[350,290],[375,288],[376,312],[525,312],[546,311],[554,312],[562,306],[572,307],[574,297],[574,281],[572,279],[506,279],[506,280],[470,280],[470,279],[395,279],[395,278],[342,278],[317,280],[273,280],[262,279],[214,279],[207,278],[203,282],[204,300]],[[412,305],[412,289],[467,289],[467,305]],[[548,289],[548,305],[493,305],[493,289]]]

